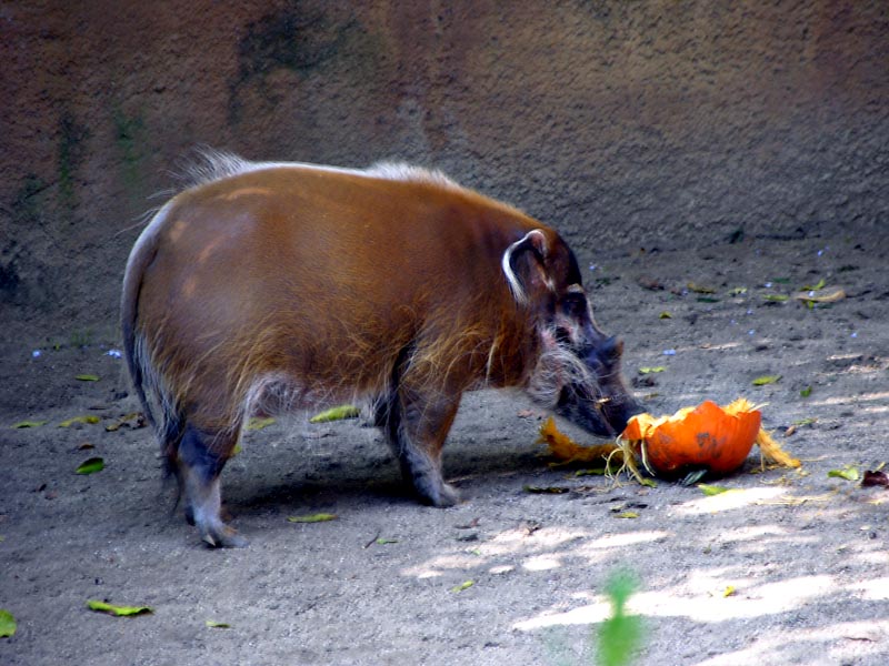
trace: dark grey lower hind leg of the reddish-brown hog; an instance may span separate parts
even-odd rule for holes
[[[180,494],[186,498],[186,519],[213,547],[238,548],[248,543],[221,516],[219,475],[234,448],[239,430],[208,433],[189,423],[171,461]]]

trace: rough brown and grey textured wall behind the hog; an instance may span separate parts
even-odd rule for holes
[[[606,255],[889,235],[883,1],[32,1],[0,62],[7,321],[112,321],[197,144],[439,167]]]

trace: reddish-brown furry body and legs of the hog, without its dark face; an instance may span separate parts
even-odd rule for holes
[[[242,167],[164,206],[124,280],[128,362],[191,517],[239,544],[217,477],[251,411],[361,397],[420,494],[451,504],[436,476],[460,395],[529,383],[579,282],[570,250],[434,174]]]

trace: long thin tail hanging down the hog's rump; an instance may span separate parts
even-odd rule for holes
[[[148,340],[139,330],[139,293],[146,269],[157,254],[158,229],[163,223],[171,203],[164,205],[153,216],[136,241],[123,273],[123,293],[120,302],[120,324],[127,369],[146,421],[157,434],[161,452],[168,460],[171,447],[178,443],[182,420],[178,414],[176,400],[164,386],[159,369],[153,363]]]

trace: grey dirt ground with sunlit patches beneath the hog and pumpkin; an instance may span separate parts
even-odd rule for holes
[[[109,355],[113,329],[47,320],[8,330],[0,350],[0,607],[18,620],[0,663],[585,664],[609,613],[603,583],[627,567],[646,626],[638,664],[885,664],[889,492],[828,472],[889,458],[887,239],[577,250],[649,411],[765,403],[765,426],[801,470],[761,473],[753,452],[718,482],[738,492],[715,497],[578,476],[541,456],[537,408],[480,392],[446,448],[459,506],[417,504],[361,420],[298,417],[249,433],[227,467],[228,509],[251,543],[214,551],[171,514],[149,430],[107,430],[137,408]],[[766,299],[821,279],[847,297],[815,309]],[[752,385],[767,374],[781,379]],[[59,427],[82,415],[100,421]],[[47,423],[11,427],[24,420]],[[74,473],[93,456],[103,471]],[[287,519],[318,512],[339,517]],[[153,614],[111,617],[87,608],[93,598]]]

